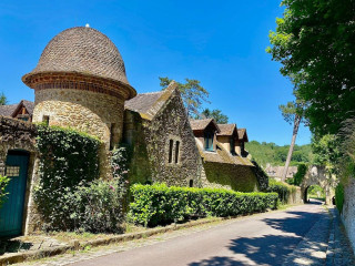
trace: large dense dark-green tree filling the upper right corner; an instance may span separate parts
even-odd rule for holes
[[[305,117],[316,135],[336,134],[354,115],[355,3],[353,0],[283,0],[283,18],[266,51],[310,103]]]

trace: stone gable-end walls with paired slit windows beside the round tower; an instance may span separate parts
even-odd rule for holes
[[[173,160],[169,163],[170,140],[173,141]],[[133,182],[166,183],[168,185],[202,186],[202,161],[178,91],[150,120],[125,111],[124,141],[132,146],[130,180]],[[174,161],[176,141],[179,160]],[[151,176],[151,177],[150,177]]]

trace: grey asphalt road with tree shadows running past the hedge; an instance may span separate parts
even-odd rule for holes
[[[71,265],[282,265],[322,215],[321,205],[306,204]]]

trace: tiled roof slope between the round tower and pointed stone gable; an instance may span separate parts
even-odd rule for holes
[[[163,91],[139,93],[135,98],[124,102],[124,109],[138,112],[142,119],[152,120],[175,92],[176,88],[176,82],[172,81]]]

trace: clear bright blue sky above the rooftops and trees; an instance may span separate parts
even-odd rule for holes
[[[55,34],[89,23],[116,44],[139,93],[160,90],[158,76],[200,80],[206,108],[246,127],[250,140],[288,144],[292,126],[277,106],[293,100],[292,84],[265,53],[282,11],[280,0],[1,0],[0,92],[10,103],[33,101],[21,76]],[[296,143],[310,140],[302,126]]]

